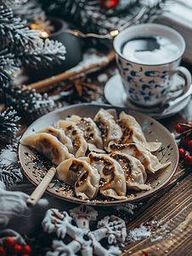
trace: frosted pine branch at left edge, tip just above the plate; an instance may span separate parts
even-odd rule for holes
[[[42,96],[36,93],[36,90],[31,89],[23,91],[22,88],[25,85],[15,87],[12,81],[12,73],[18,72],[19,68],[14,66],[12,58],[13,55],[11,54],[0,55],[1,102],[4,102],[6,106],[13,106],[21,117],[30,116],[31,119],[35,119],[44,113],[48,113],[54,102],[49,100],[46,94]]]

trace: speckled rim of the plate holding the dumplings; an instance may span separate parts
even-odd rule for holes
[[[82,201],[81,199],[78,199],[76,197],[73,196],[65,196],[62,194],[58,194],[54,191],[53,188],[48,188],[46,189],[46,192],[48,192],[48,194],[50,195],[54,195],[62,200],[65,201],[71,201],[73,203],[77,203],[77,204],[87,204],[87,205],[92,205],[92,206],[103,206],[103,207],[107,207],[107,206],[114,206],[114,205],[119,205],[121,203],[129,203],[129,202],[134,202],[134,201],[141,201],[144,200],[146,197],[149,197],[150,195],[154,195],[156,192],[158,192],[159,190],[161,190],[167,183],[169,183],[169,181],[172,179],[173,175],[175,174],[175,172],[178,169],[178,145],[175,142],[174,138],[172,137],[172,134],[167,130],[167,128],[163,125],[161,125],[158,121],[156,121],[155,119],[150,118],[149,116],[146,116],[144,113],[138,113],[136,111],[130,110],[128,108],[120,108],[120,107],[114,107],[111,105],[107,105],[107,104],[95,104],[95,103],[81,103],[81,104],[76,104],[76,105],[71,105],[71,106],[67,106],[64,108],[59,108],[54,110],[53,112],[47,113],[44,116],[42,116],[41,118],[37,119],[36,121],[34,121],[23,133],[22,136],[31,134],[32,132],[34,132],[34,129],[39,131],[42,130],[43,128],[46,128],[49,125],[55,123],[56,121],[58,121],[61,118],[65,118],[68,115],[71,114],[78,114],[82,117],[93,117],[93,115],[99,110],[99,108],[104,108],[104,109],[108,109],[108,108],[115,108],[117,113],[120,113],[121,111],[125,111],[126,113],[129,113],[131,115],[133,115],[137,120],[138,123],[140,125],[142,125],[142,128],[144,128],[144,134],[145,137],[147,138],[147,141],[155,141],[155,137],[157,140],[161,141],[161,135],[164,135],[166,138],[165,140],[167,141],[168,145],[165,145],[166,143],[162,142],[162,147],[161,149],[163,150],[167,150],[168,152],[167,154],[167,158],[172,160],[172,165],[167,167],[167,171],[165,170],[161,170],[158,172],[155,172],[155,175],[157,177],[162,177],[163,173],[165,175],[165,173],[167,173],[167,177],[164,178],[164,180],[162,181],[162,183],[156,185],[155,188],[151,189],[150,191],[135,191],[135,195],[134,197],[131,198],[127,198],[127,200],[121,200],[121,201]],[[81,115],[82,110],[86,111],[86,114]],[[92,116],[91,114],[92,113]],[[50,121],[50,122],[49,122]],[[140,122],[143,122],[143,124],[141,124]],[[147,126],[146,125],[150,124],[150,130],[147,130]],[[44,127],[42,127],[44,126]],[[34,128],[35,127],[35,128]],[[154,127],[154,128],[151,128]],[[147,134],[146,134],[147,131]],[[150,140],[151,138],[151,140]],[[25,147],[23,145],[20,145],[20,143],[18,144],[18,150],[17,150],[17,156],[18,156],[18,162],[19,165],[22,169],[22,171],[25,174],[25,177],[27,177],[31,183],[35,184],[36,186],[38,185],[36,178],[31,177],[31,171],[29,169],[26,168],[25,166],[25,161],[22,159],[22,154],[24,154]],[[163,153],[163,150],[158,152],[158,154],[160,153],[160,155],[158,156],[158,159],[161,160],[164,158],[165,160],[165,151]],[[162,156],[164,155],[164,156]],[[161,157],[162,156],[162,157]],[[165,161],[163,161],[165,162]]]

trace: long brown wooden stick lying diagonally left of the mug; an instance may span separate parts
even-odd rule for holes
[[[90,64],[88,67],[82,67],[82,68],[78,67],[77,65],[76,67],[78,68],[72,67],[70,70],[65,71],[64,73],[59,73],[58,75],[55,75],[48,79],[43,79],[42,81],[38,81],[37,83],[28,84],[22,90],[31,88],[31,90],[36,89],[37,92],[45,92],[50,89],[54,89],[59,82],[64,81],[65,79],[69,79],[75,76],[76,74],[86,73],[96,67],[106,67],[110,63],[110,61],[113,61],[115,59],[116,53],[115,51],[112,51],[110,52],[109,55],[106,55],[105,57],[107,60],[106,61],[104,60],[101,63],[93,63],[93,64]]]

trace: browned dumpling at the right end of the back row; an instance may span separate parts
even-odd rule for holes
[[[140,143],[144,148],[147,148],[151,152],[156,151],[161,147],[161,143],[147,143],[141,126],[138,124],[137,120],[124,111],[120,113],[119,119],[116,120],[116,123],[120,125],[122,131],[122,137],[119,143]]]

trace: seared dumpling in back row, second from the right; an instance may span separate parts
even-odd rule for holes
[[[100,108],[93,120],[101,131],[104,148],[109,151],[110,143],[117,143],[120,140],[122,136],[121,127],[116,124],[113,115],[104,110],[104,108]]]

